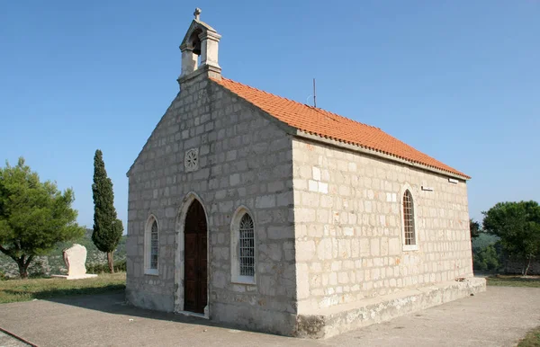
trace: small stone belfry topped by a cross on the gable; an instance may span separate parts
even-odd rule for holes
[[[218,44],[221,35],[201,21],[201,12],[200,8],[195,9],[193,13],[195,18],[180,45],[182,73],[178,77],[179,83],[201,74],[213,78],[221,77],[221,67],[218,63]]]

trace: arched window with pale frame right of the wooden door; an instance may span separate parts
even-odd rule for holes
[[[257,283],[255,245],[255,222],[248,209],[240,207],[230,225],[230,280],[233,283]]]

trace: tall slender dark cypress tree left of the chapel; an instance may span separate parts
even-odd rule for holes
[[[94,156],[94,232],[92,241],[100,251],[107,254],[109,270],[114,272],[114,250],[120,242],[123,226],[114,209],[112,181],[107,177],[103,153],[97,149]]]

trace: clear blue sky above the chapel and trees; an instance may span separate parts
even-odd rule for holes
[[[299,102],[316,77],[318,106],[473,176],[473,218],[540,200],[538,0],[3,1],[0,160],[73,187],[92,227],[102,149],[125,223],[125,173],[178,91],[196,6],[224,76]]]

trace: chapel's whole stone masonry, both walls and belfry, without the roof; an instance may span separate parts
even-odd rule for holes
[[[464,180],[308,135],[239,97],[220,84],[220,35],[200,13],[180,47],[180,93],[128,172],[130,303],[192,314],[184,226],[194,200],[208,236],[206,306],[197,312],[218,322],[326,337],[485,289],[472,279]],[[406,189],[414,246],[403,245]],[[233,257],[238,211],[254,222],[250,282]]]

